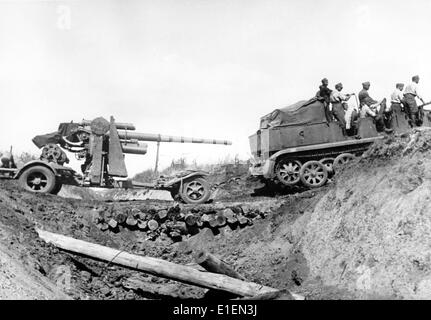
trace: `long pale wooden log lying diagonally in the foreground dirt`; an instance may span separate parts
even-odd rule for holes
[[[251,297],[266,292],[278,291],[271,287],[231,278],[224,274],[202,272],[162,259],[138,256],[39,229],[36,229],[36,231],[43,240],[63,250],[204,288],[222,290],[239,296]]]

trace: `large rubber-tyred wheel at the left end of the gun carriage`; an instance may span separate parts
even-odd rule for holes
[[[54,173],[44,166],[34,166],[21,174],[19,185],[31,192],[51,193],[55,188]]]

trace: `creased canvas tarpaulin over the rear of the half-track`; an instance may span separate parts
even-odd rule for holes
[[[299,101],[293,105],[275,109],[260,119],[260,128],[266,129],[277,126],[297,126],[311,123],[326,122],[323,102],[312,98]]]

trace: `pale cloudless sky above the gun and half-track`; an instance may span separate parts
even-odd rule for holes
[[[324,77],[346,93],[370,81],[379,100],[418,74],[431,101],[430,13],[429,0],[0,0],[0,150],[39,154],[35,135],[112,115],[138,132],[231,140],[160,147],[162,168],[215,163],[248,159],[260,117]],[[126,155],[129,175],[155,156],[151,142]]]

